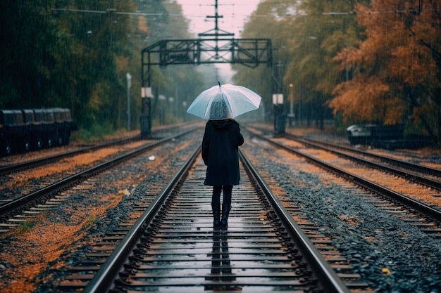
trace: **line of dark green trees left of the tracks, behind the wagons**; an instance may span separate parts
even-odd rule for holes
[[[171,0],[6,0],[0,4],[0,108],[70,108],[84,134],[139,127],[142,48],[189,38]],[[194,98],[194,67],[154,68],[154,91]],[[200,86],[199,86],[200,89]],[[157,99],[157,97],[156,97]],[[158,103],[153,103],[154,108]],[[155,109],[154,109],[155,110]]]

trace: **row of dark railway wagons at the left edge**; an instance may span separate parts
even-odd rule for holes
[[[76,129],[66,108],[0,110],[0,155],[67,145]]]

